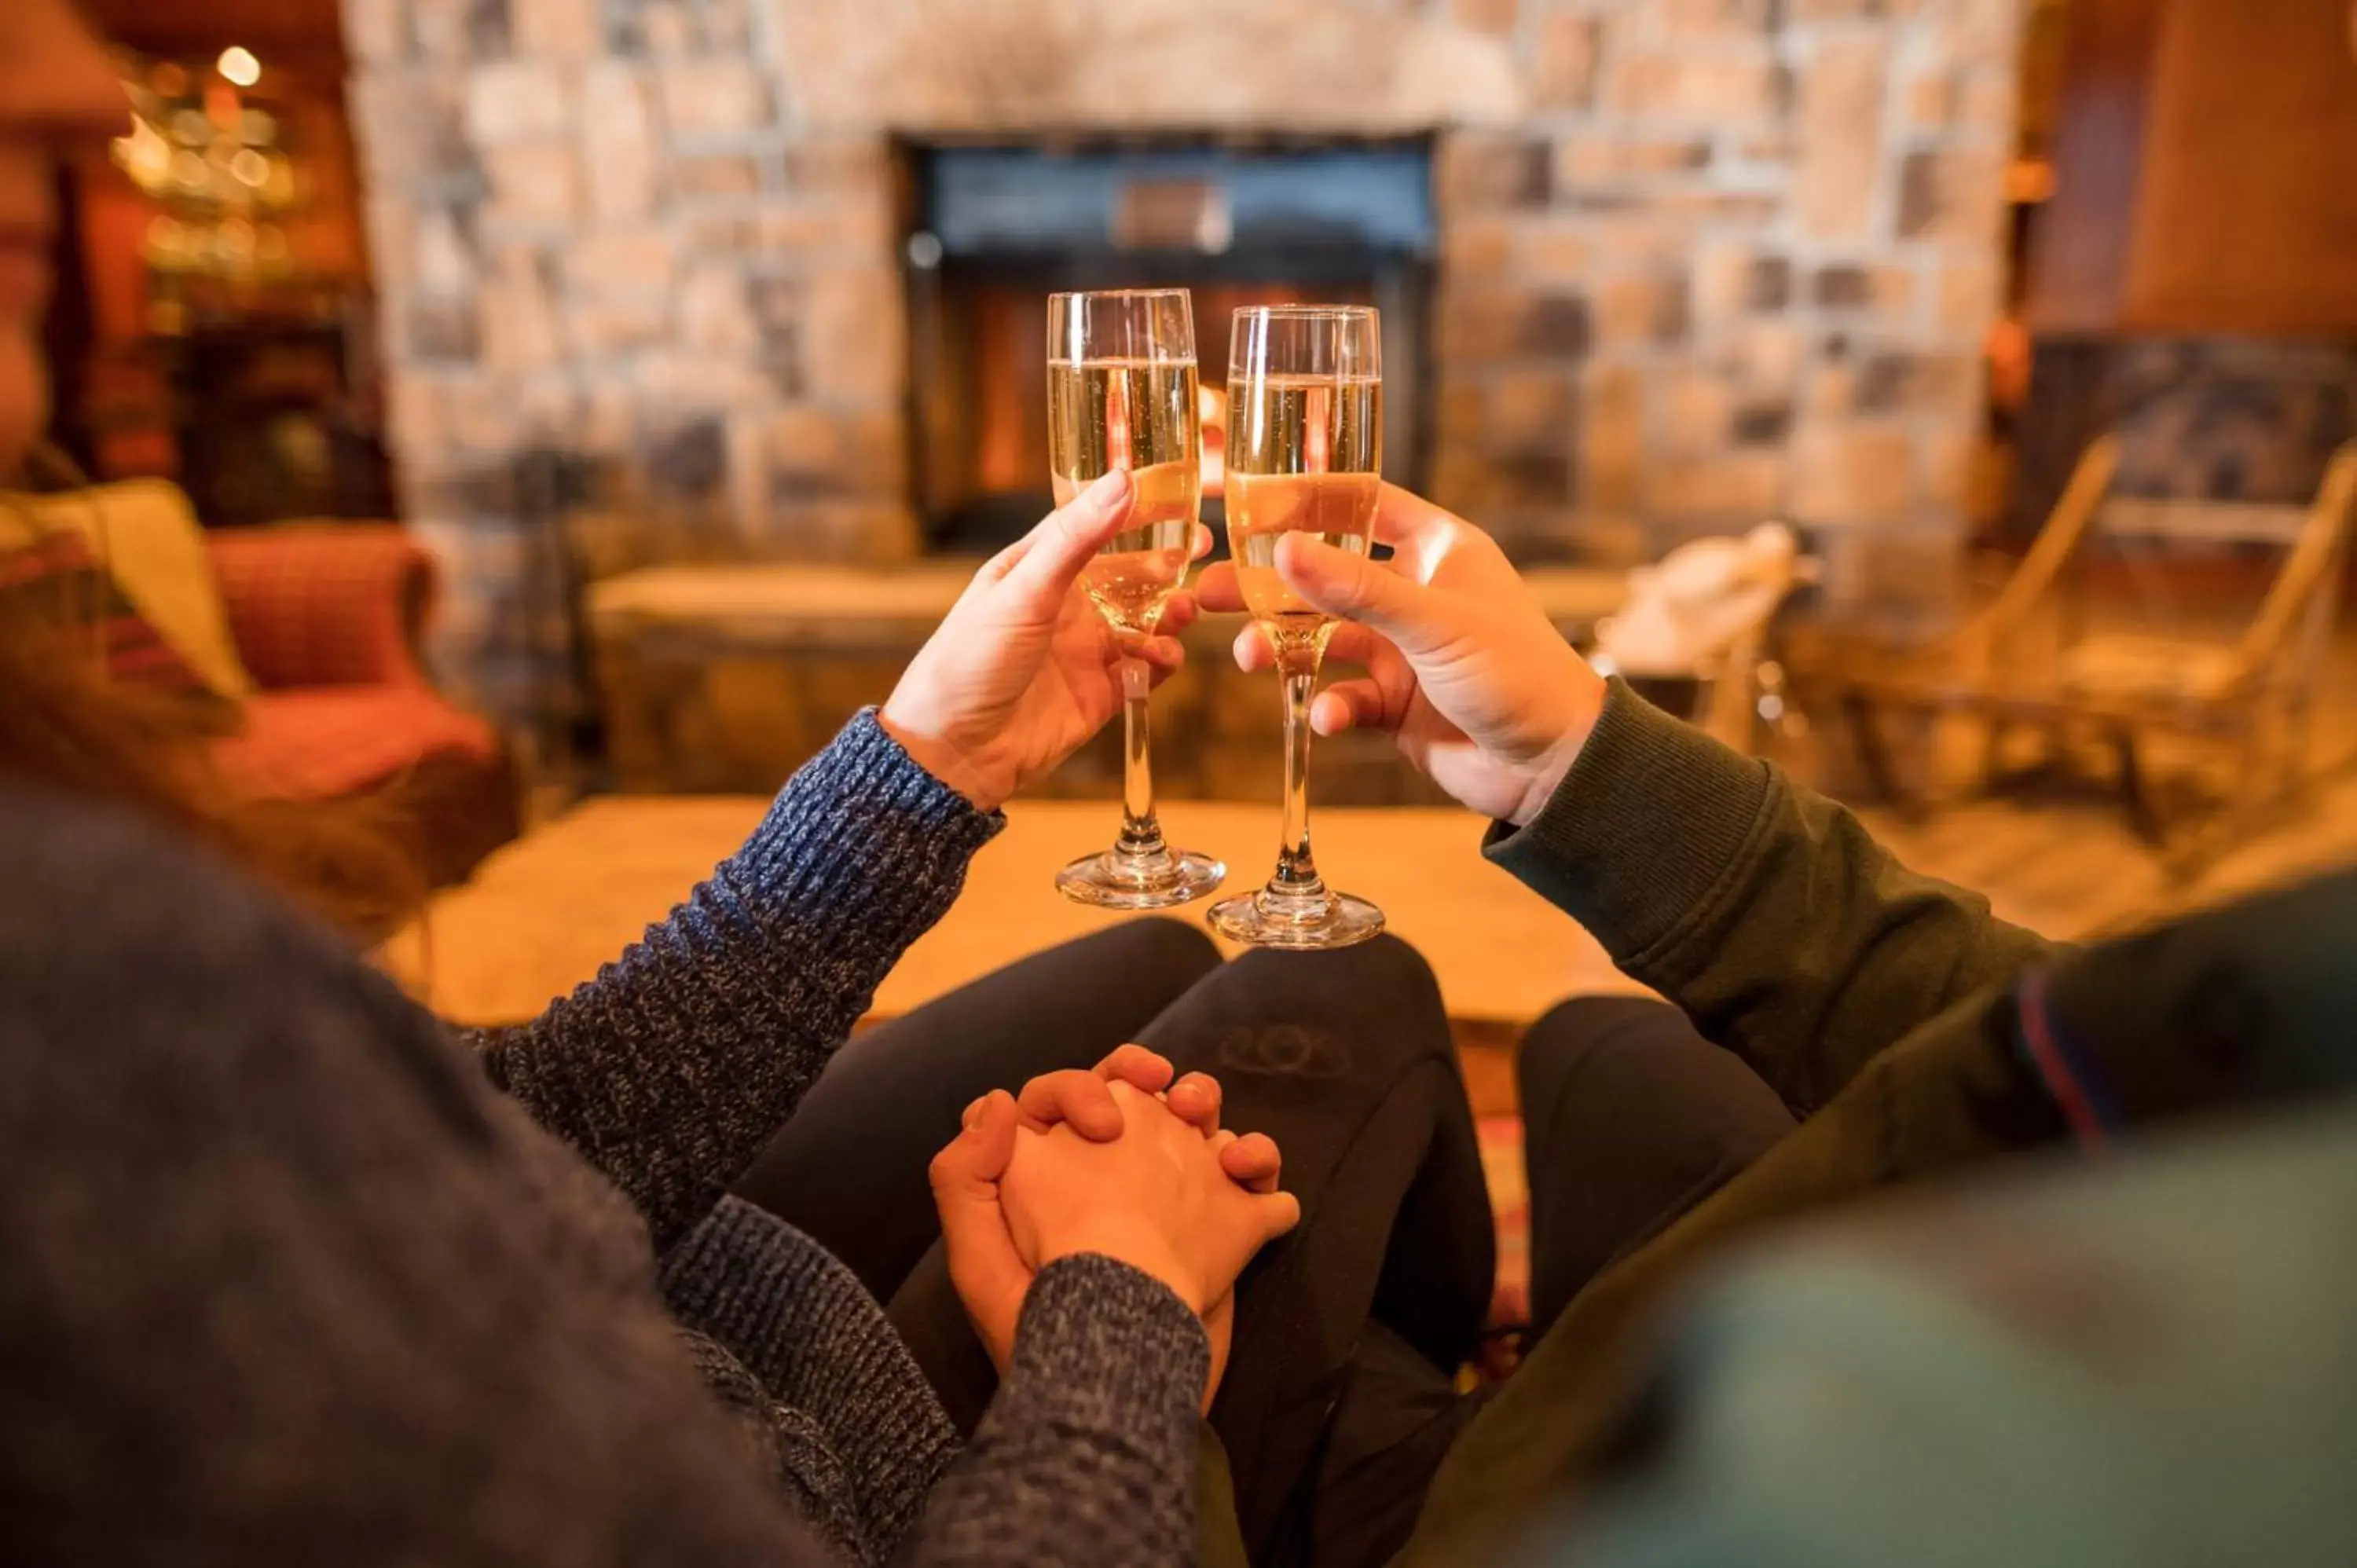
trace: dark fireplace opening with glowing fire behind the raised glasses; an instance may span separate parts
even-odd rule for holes
[[[1431,434],[1431,137],[903,139],[910,493],[926,549],[988,554],[1049,509],[1047,297],[1058,290],[1193,290],[1211,417],[1233,311],[1376,307],[1384,469],[1419,483]],[[1207,462],[1214,448],[1216,436]],[[1204,521],[1219,531],[1216,498]]]

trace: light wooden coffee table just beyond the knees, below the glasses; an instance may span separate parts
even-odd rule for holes
[[[754,797],[606,797],[526,835],[441,894],[387,943],[389,967],[455,1023],[519,1023],[592,979],[662,920],[761,821]],[[976,856],[966,891],[884,981],[872,1016],[898,1016],[990,969],[1120,915],[1065,903],[1049,877],[1103,849],[1110,802],[1016,802]],[[1228,891],[1268,877],[1270,806],[1169,802],[1164,828],[1228,861]],[[1318,865],[1374,898],[1440,976],[1461,1035],[1511,1040],[1565,995],[1638,990],[1570,917],[1480,858],[1480,818],[1435,809],[1320,811]],[[1174,910],[1202,922],[1204,903]]]

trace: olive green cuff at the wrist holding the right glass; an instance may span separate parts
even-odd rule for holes
[[[1612,679],[1579,759],[1527,828],[1483,854],[1589,929],[1615,962],[1676,931],[1744,854],[1775,788],[1765,762]]]

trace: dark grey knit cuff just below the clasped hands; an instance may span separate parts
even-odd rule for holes
[[[1016,1320],[1009,1379],[1058,1419],[1155,1443],[1186,1467],[1211,1339],[1162,1280],[1096,1252],[1039,1271]]]

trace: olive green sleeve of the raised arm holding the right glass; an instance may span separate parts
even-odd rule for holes
[[[2051,953],[1622,681],[1546,809],[1492,830],[1485,854],[1803,1115],[1876,1052]]]

